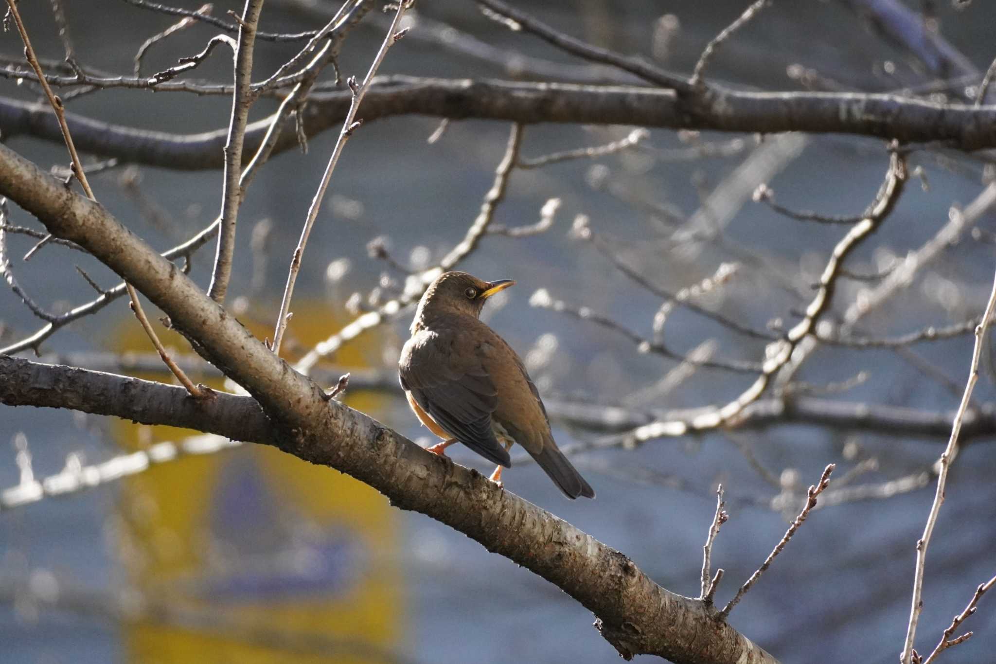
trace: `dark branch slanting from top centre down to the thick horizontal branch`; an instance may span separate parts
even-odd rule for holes
[[[542,21],[533,18],[529,14],[506,5],[500,0],[477,0],[477,3],[483,7],[487,7],[499,16],[511,19],[512,22],[515,25],[518,25],[524,32],[536,35],[548,44],[555,46],[562,51],[566,51],[571,55],[584,58],[590,62],[610,65],[622,70],[623,72],[628,72],[629,74],[639,77],[643,81],[657,86],[662,86],[664,88],[669,88],[676,92],[689,92],[690,90],[688,82],[679,76],[668,74],[667,72],[654,67],[640,58],[622,56],[614,51],[603,49],[571,37],[570,35],[566,35],[559,30],[551,28]]]

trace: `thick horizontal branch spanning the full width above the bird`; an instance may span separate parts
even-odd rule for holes
[[[713,91],[678,99],[672,91],[635,87],[380,78],[364,100],[365,121],[401,114],[505,119],[524,124],[570,122],[776,133],[850,133],[901,142],[946,141],[974,150],[996,147],[996,107],[942,105],[894,95]],[[305,111],[309,135],[338,126],[352,93],[313,95]],[[110,124],[74,113],[67,121],[79,149],[125,161],[197,170],[220,168],[226,129],[171,134]],[[252,122],[246,151],[259,145],[269,118]],[[0,132],[62,139],[51,111],[0,99]],[[284,130],[276,150],[298,144]]]

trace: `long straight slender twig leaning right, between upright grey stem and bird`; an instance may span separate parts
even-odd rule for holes
[[[318,190],[315,192],[314,198],[312,198],[311,206],[308,209],[308,215],[305,218],[304,228],[301,230],[301,238],[298,241],[298,246],[294,250],[293,257],[291,258],[291,265],[287,275],[287,286],[284,288],[284,296],[280,303],[280,312],[277,314],[277,324],[273,333],[273,342],[271,344],[274,353],[280,353],[280,344],[284,338],[284,332],[287,330],[287,316],[290,313],[291,298],[294,295],[294,284],[297,282],[298,272],[301,270],[301,261],[304,256],[305,245],[308,243],[308,237],[311,235],[312,227],[315,225],[315,220],[318,218],[318,211],[322,205],[322,199],[325,197],[325,191],[329,187],[329,182],[332,180],[332,173],[336,168],[336,164],[339,162],[340,155],[343,153],[346,141],[350,139],[350,136],[353,135],[353,132],[363,121],[358,121],[356,119],[357,111],[359,111],[360,105],[363,102],[364,97],[367,95],[367,91],[370,89],[373,76],[380,68],[380,63],[383,62],[383,58],[387,54],[387,49],[389,49],[399,38],[397,28],[400,24],[401,16],[404,15],[404,11],[409,6],[409,0],[398,1],[397,11],[394,13],[394,20],[391,21],[387,34],[384,36],[383,41],[380,43],[380,48],[373,57],[373,63],[371,63],[371,67],[368,70],[367,76],[364,78],[363,83],[358,84],[355,78],[350,78],[350,90],[353,92],[350,110],[346,113],[346,118],[343,121],[343,127],[339,132],[339,138],[336,140],[336,145],[333,147],[332,155],[329,157],[325,173],[322,175],[322,181],[319,183]]]

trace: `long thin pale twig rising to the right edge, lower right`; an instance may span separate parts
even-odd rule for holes
[[[916,637],[916,623],[919,620],[920,612],[923,610],[923,573],[926,566],[927,547],[930,544],[930,536],[933,535],[934,525],[937,523],[937,515],[940,513],[940,506],[944,504],[944,486],[947,483],[947,472],[951,462],[958,453],[958,434],[961,432],[961,423],[965,417],[965,411],[971,402],[972,390],[975,382],[979,378],[979,358],[982,355],[982,346],[985,343],[986,332],[989,330],[989,323],[996,310],[996,279],[993,282],[993,289],[989,295],[989,302],[986,311],[982,315],[982,322],[975,328],[975,346],[972,349],[972,360],[968,369],[968,380],[965,382],[965,391],[958,405],[958,411],[954,416],[951,425],[951,437],[947,441],[947,448],[940,455],[938,461],[939,472],[937,474],[937,491],[934,494],[933,504],[930,506],[930,513],[927,515],[926,525],[923,527],[923,535],[916,542],[916,570],[913,574],[913,598],[909,609],[909,623],[906,626],[906,639],[902,646],[902,664],[911,664],[913,657],[913,641]]]

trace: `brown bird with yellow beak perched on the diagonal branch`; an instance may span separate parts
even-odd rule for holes
[[[480,321],[488,298],[515,282],[482,281],[444,272],[422,294],[401,348],[398,379],[408,405],[442,442],[428,447],[445,456],[460,442],[498,464],[490,480],[501,484],[512,466],[508,450],[521,445],[574,500],[595,491],[557,447],[546,406],[515,350]]]

